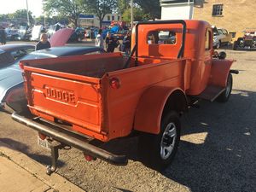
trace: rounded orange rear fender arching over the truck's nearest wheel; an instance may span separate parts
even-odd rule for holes
[[[145,90],[137,105],[134,130],[158,134],[161,117],[166,110],[173,109],[180,113],[187,106],[183,90],[164,86],[151,87]]]

